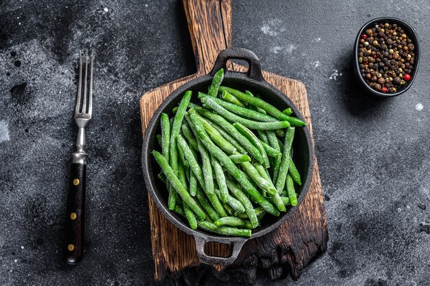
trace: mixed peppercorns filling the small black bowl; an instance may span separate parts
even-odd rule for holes
[[[396,23],[376,23],[365,30],[359,43],[359,67],[367,85],[396,92],[411,80],[415,46]]]

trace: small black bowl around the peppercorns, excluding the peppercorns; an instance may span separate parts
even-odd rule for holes
[[[409,38],[412,40],[412,43],[414,43],[414,45],[415,45],[415,50],[414,50],[415,61],[414,61],[414,69],[412,69],[412,72],[410,75],[411,80],[409,80],[409,82],[405,85],[405,87],[403,87],[399,91],[392,92],[392,93],[388,93],[388,92],[384,93],[381,91],[377,91],[376,89],[373,89],[372,87],[367,85],[363,76],[361,76],[360,63],[359,63],[359,57],[358,57],[359,42],[361,39],[361,35],[364,34],[365,30],[373,27],[374,24],[385,23],[385,22],[396,23],[396,24],[400,25],[403,28],[403,30],[405,30],[405,32],[409,36]],[[373,19],[372,21],[368,21],[367,23],[365,23],[365,25],[363,25],[363,27],[361,27],[359,34],[357,34],[357,38],[355,39],[355,45],[354,45],[354,74],[357,77],[357,80],[359,81],[359,84],[361,85],[361,87],[365,91],[367,91],[369,94],[373,94],[374,96],[380,96],[383,98],[391,98],[391,97],[399,96],[400,94],[403,94],[405,91],[407,91],[409,89],[409,87],[411,87],[412,83],[414,83],[416,73],[418,72],[418,64],[419,63],[420,63],[420,44],[418,42],[418,37],[416,36],[416,32],[411,27],[411,25],[409,25],[408,23],[406,23],[403,20],[396,19],[396,18],[390,18],[390,17],[382,17],[382,18]]]

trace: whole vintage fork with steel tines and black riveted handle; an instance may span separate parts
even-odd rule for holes
[[[87,173],[87,156],[85,153],[85,127],[91,119],[93,109],[93,60],[91,52],[89,88],[87,98],[88,51],[85,52],[84,88],[82,90],[82,53],[79,52],[79,83],[76,98],[75,121],[78,125],[76,152],[72,153],[69,195],[65,227],[65,259],[68,264],[76,264],[84,254],[84,220],[85,220],[85,181]],[[81,102],[82,101],[82,102]]]

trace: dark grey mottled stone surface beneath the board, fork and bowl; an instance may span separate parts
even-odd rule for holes
[[[295,285],[430,285],[429,14],[424,0],[233,3],[234,46],[308,88],[330,241]],[[351,69],[356,31],[382,16],[408,21],[422,47],[414,86],[389,100],[363,96]],[[69,267],[60,247],[85,47],[97,52],[87,251]],[[138,101],[194,69],[179,1],[0,2],[0,285],[154,284]]]

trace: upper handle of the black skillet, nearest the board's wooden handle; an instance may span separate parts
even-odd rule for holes
[[[261,73],[260,59],[258,59],[256,54],[250,50],[243,49],[242,47],[231,47],[230,49],[220,52],[220,54],[218,54],[218,58],[216,58],[214,68],[212,69],[212,72],[210,72],[210,75],[214,76],[220,68],[227,71],[227,61],[231,59],[243,60],[248,63],[248,78],[258,81],[264,80]]]

